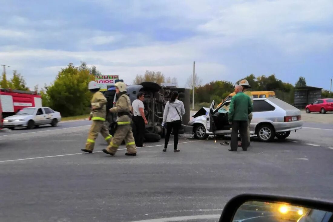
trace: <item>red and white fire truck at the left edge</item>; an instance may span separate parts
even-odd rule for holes
[[[3,118],[15,115],[26,107],[41,107],[42,98],[37,92],[13,89],[0,89],[0,132]]]

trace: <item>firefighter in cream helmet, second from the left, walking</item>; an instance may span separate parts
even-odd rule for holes
[[[131,100],[127,95],[126,84],[124,82],[117,82],[116,93],[117,102],[114,107],[110,109],[110,112],[117,113],[117,127],[115,134],[106,149],[103,152],[114,156],[117,152],[119,146],[125,139],[125,144],[127,148],[126,156],[136,156],[137,150],[135,147],[135,140],[132,133],[132,116],[131,116]]]

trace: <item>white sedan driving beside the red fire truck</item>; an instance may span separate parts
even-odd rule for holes
[[[29,107],[18,111],[14,116],[8,116],[3,120],[3,127],[14,129],[15,127],[26,127],[33,129],[35,126],[51,124],[57,126],[61,121],[59,112],[49,107]]]

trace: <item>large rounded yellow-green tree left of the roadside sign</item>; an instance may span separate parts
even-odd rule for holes
[[[91,93],[87,89],[94,76],[88,69],[81,69],[70,63],[61,69],[56,80],[40,93],[44,104],[59,111],[62,116],[83,115],[89,112]],[[45,100],[45,101],[44,101]]]

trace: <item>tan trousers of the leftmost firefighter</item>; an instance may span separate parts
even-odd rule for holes
[[[112,136],[109,134],[109,130],[105,125],[105,122],[100,120],[93,120],[88,134],[86,150],[94,150],[95,141],[99,133],[101,133],[107,143],[110,144]]]

